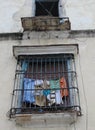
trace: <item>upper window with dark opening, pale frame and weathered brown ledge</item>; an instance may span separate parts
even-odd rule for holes
[[[70,30],[62,0],[35,0],[32,3],[32,17],[21,18],[24,31]]]

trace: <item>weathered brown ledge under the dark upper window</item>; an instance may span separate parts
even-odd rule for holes
[[[70,30],[68,17],[58,18],[50,16],[23,17],[21,18],[24,31],[50,31],[50,30]]]

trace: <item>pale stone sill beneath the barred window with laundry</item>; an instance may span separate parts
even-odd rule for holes
[[[20,126],[44,127],[62,126],[77,121],[77,112],[16,114],[16,124]]]

